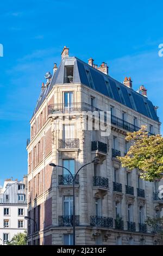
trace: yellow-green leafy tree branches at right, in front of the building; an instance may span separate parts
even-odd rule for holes
[[[140,178],[147,181],[160,180],[163,172],[163,138],[161,135],[148,136],[146,126],[136,132],[128,132],[126,140],[131,147],[124,157],[117,157],[122,167],[138,168]]]

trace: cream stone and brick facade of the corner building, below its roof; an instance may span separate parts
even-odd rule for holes
[[[67,52],[65,56],[68,62]],[[65,105],[66,92],[73,95],[73,107],[68,106],[67,114],[61,107]],[[112,123],[111,134],[106,137],[101,136],[101,131],[83,129],[81,109],[85,104],[92,106],[92,99],[97,109],[110,111],[112,108],[115,117],[122,119],[125,113],[128,123],[133,124],[136,118],[136,126],[147,125],[149,130],[151,125],[153,133],[160,133],[158,121],[84,84],[72,81],[55,84],[30,121],[28,215],[35,218],[39,228],[35,230],[34,223],[29,223],[29,245],[72,243],[72,184],[70,180],[63,181],[67,174],[62,168],[52,168],[49,163],[63,166],[64,161],[73,160],[74,167],[71,168],[78,170],[95,157],[99,163],[91,163],[80,170],[75,187],[77,245],[154,243],[154,234],[146,227],[145,219],[154,217],[157,209],[161,214],[162,201],[153,200],[155,184],[140,180],[137,170],[129,172],[116,159],[117,154],[124,155],[127,150],[125,126]],[[66,137],[69,144],[60,144],[66,143],[61,127],[67,124],[73,125],[73,136],[71,132],[71,140]],[[70,212],[68,217],[65,212],[66,216]]]

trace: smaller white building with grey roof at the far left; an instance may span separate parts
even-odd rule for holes
[[[27,230],[27,176],[23,181],[4,181],[0,188],[0,245]]]

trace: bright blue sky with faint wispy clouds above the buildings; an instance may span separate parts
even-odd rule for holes
[[[162,8],[161,0],[1,1],[0,184],[27,173],[29,120],[44,75],[59,64],[64,45],[70,56],[108,63],[118,81],[131,76],[134,89],[147,87],[162,121]]]

